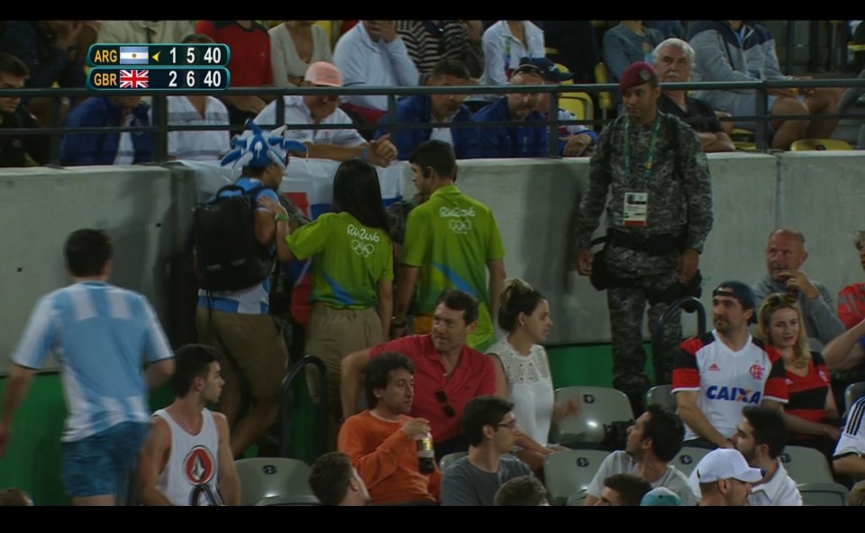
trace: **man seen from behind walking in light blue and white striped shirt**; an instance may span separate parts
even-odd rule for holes
[[[150,302],[107,282],[113,245],[105,233],[77,230],[64,253],[74,283],[39,300],[12,356],[0,457],[16,409],[53,354],[68,406],[60,438],[66,492],[75,505],[114,505],[150,427],[148,391],[174,372],[174,354]]]

